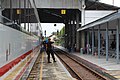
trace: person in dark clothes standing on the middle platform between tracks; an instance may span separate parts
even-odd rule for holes
[[[47,52],[47,55],[48,55],[48,63],[51,63],[51,62],[50,62],[50,55],[52,56],[53,61],[56,62],[56,61],[55,61],[54,52],[53,52],[53,49],[52,49],[52,44],[53,44],[53,43],[54,43],[54,42],[52,42],[51,39],[49,38],[49,39],[48,39],[48,42],[47,42],[47,44],[46,44],[46,52]]]

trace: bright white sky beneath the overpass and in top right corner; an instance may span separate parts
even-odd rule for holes
[[[107,3],[114,6],[120,7],[120,0],[100,0],[100,2]],[[56,26],[54,26],[56,24]],[[46,30],[46,36],[50,36],[52,32],[56,32],[57,30],[61,30],[63,26],[65,26],[63,23],[41,23],[43,36],[45,36],[45,30]]]

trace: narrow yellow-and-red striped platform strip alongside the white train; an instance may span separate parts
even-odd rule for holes
[[[38,54],[38,49],[32,51],[24,59],[21,59],[21,61],[18,64],[13,65],[13,67],[9,71],[7,71],[3,76],[0,77],[0,80],[20,80],[22,75],[25,73],[26,69],[29,68],[30,70],[30,68],[32,68],[31,65],[34,64]]]

